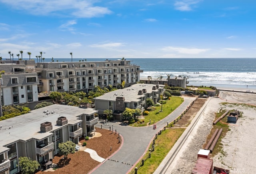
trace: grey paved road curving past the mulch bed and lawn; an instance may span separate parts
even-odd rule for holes
[[[166,118],[156,123],[156,129],[153,129],[153,125],[145,127],[132,127],[125,126],[120,122],[110,122],[108,126],[104,126],[100,123],[96,124],[96,127],[107,128],[114,126],[114,130],[120,133],[123,137],[123,145],[114,155],[108,160],[105,160],[97,168],[95,168],[92,174],[125,174],[134,164],[144,155],[148,150],[148,146],[152,142],[155,134],[159,132],[167,122],[172,122],[178,117],[190,103],[194,100],[194,97],[185,97],[184,102]],[[102,142],[104,143],[104,142]],[[100,146],[100,144],[99,144]]]

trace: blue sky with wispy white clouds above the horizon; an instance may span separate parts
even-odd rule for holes
[[[255,0],[0,0],[0,56],[255,58]]]

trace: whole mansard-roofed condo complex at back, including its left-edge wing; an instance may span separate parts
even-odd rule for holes
[[[101,62],[2,61],[2,105],[37,102],[50,92],[88,92],[95,86],[126,86],[140,80],[140,66],[129,60]]]

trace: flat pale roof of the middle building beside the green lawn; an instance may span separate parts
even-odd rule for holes
[[[109,101],[116,101],[116,97],[124,97],[126,102],[139,102],[140,98],[143,95],[138,95],[139,90],[146,89],[147,93],[152,93],[153,86],[156,86],[156,84],[134,84],[130,87],[124,88],[124,89],[118,89],[115,91],[111,91],[108,93],[103,94],[102,96],[95,97],[95,100],[109,100]],[[160,88],[163,88],[164,85],[159,85]]]

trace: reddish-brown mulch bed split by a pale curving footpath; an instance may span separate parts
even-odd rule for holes
[[[112,133],[112,130],[96,128],[96,132],[102,134],[100,137],[90,138],[89,140],[80,139],[80,143],[86,141],[86,148],[95,150],[102,158],[108,158],[113,154],[121,145],[118,143],[118,134]],[[121,140],[121,139],[120,139]],[[110,146],[112,150],[110,151]],[[52,162],[58,164],[58,168],[54,174],[86,174],[93,170],[100,162],[93,160],[90,154],[84,151],[78,151],[74,154],[69,154],[67,160],[62,159],[63,156],[54,156]],[[53,172],[40,171],[37,173],[52,174]]]

